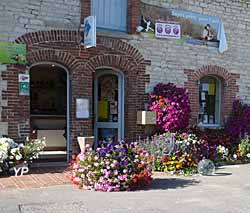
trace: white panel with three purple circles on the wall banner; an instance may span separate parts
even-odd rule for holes
[[[181,38],[181,25],[172,23],[155,23],[156,38]]]

